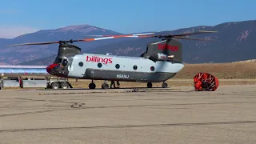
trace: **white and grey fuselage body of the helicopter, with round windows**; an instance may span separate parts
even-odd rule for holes
[[[70,60],[68,78],[127,82],[164,82],[184,67],[182,63],[103,54],[76,54]]]

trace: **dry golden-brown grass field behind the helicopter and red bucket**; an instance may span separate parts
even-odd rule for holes
[[[213,74],[219,79],[220,86],[226,85],[250,85],[256,84],[256,62],[232,62],[232,63],[207,63],[186,64],[174,78],[168,81],[169,86],[193,86],[193,78],[198,72]],[[72,86],[87,88],[90,80],[70,79]],[[95,81],[97,87],[101,87],[103,81]],[[146,83],[120,82],[122,87],[145,87]],[[155,83],[154,86],[161,86]]]

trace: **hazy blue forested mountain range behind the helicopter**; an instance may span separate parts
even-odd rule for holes
[[[194,26],[178,30],[155,32],[158,34],[182,34],[197,30],[218,30],[214,34],[199,34],[193,38],[213,38],[214,42],[179,40],[182,42],[185,63],[235,62],[256,58],[256,20],[225,22],[216,26]],[[148,32],[142,32],[148,33]],[[13,39],[0,38],[0,64],[49,65],[58,53],[58,45],[14,46],[6,45],[23,42],[49,42],[69,39],[92,38],[86,35],[122,34],[96,26],[66,26],[55,30],[39,30]],[[94,37],[95,38],[95,37]],[[148,42],[159,38],[117,38],[94,42],[76,42],[83,53],[117,54],[138,56],[146,50]]]

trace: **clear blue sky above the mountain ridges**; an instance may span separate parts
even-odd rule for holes
[[[0,38],[82,24],[124,34],[214,26],[256,20],[255,6],[253,0],[3,0]]]

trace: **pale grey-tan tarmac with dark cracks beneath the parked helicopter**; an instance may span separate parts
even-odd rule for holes
[[[132,91],[0,90],[0,143],[256,143],[256,86]]]

